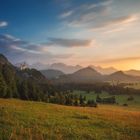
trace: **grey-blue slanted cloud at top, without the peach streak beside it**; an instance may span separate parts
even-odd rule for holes
[[[69,26],[85,26],[85,24],[93,22],[97,16],[104,15],[108,11],[108,5],[111,2],[112,0],[102,0],[98,3],[86,2],[86,4],[81,4],[75,8],[72,7],[73,10],[70,9],[62,14],[67,15],[68,13],[64,22]]]

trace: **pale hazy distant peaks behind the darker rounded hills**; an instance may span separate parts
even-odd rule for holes
[[[20,67],[20,65],[24,63],[24,62],[21,62],[21,63],[17,63],[15,64],[17,67]],[[32,65],[28,65],[27,64],[27,67],[29,68],[35,68],[37,70],[43,70],[45,71],[46,70],[46,74],[49,72],[51,72],[50,70],[52,70],[53,72],[55,71],[55,74],[54,76],[52,75],[52,72],[51,72],[51,75],[52,77],[55,77],[55,76],[59,76],[59,75],[62,75],[63,74],[72,74],[82,68],[84,68],[83,66],[80,66],[80,65],[75,65],[75,66],[72,66],[72,65],[67,65],[67,64],[64,64],[64,63],[53,63],[53,64],[43,64],[43,63],[40,63],[40,62],[37,62],[37,63],[34,63]],[[94,70],[96,70],[97,72],[103,74],[103,75],[109,75],[109,74],[112,74],[114,72],[117,72],[119,70],[117,70],[116,68],[114,67],[106,67],[106,68],[103,68],[101,66],[94,66],[94,65],[90,65],[89,67],[93,68]],[[49,70],[49,71],[48,71]],[[132,75],[132,76],[140,76],[140,70],[134,70],[134,69],[131,69],[131,70],[127,70],[127,71],[123,71],[125,74],[127,75]],[[48,74],[47,74],[48,75]]]

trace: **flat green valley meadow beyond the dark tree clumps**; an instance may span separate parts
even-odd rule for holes
[[[85,91],[74,91],[73,94],[76,95],[83,95],[86,96],[86,99],[96,99],[97,94],[95,94],[94,92],[90,92],[87,93]],[[104,92],[102,94],[100,94],[100,97],[109,97],[111,95],[109,95],[108,93]],[[129,97],[128,95],[115,95],[116,97],[116,101],[117,103],[119,103],[119,105],[123,105],[124,103],[127,103],[129,106],[131,107],[140,107],[140,95],[133,95],[134,100],[133,101],[128,101],[127,98]]]

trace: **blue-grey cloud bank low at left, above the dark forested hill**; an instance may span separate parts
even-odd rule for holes
[[[0,52],[3,53],[13,63],[27,61],[29,63],[35,62],[49,62],[56,59],[69,58],[72,54],[53,54],[47,50],[46,46],[41,44],[33,44],[26,42],[11,35],[0,35]]]

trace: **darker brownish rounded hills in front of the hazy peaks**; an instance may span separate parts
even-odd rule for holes
[[[56,82],[64,83],[92,83],[92,82],[140,82],[140,76],[125,74],[117,71],[109,75],[103,75],[91,67],[80,69],[72,74],[65,74],[56,79]]]

